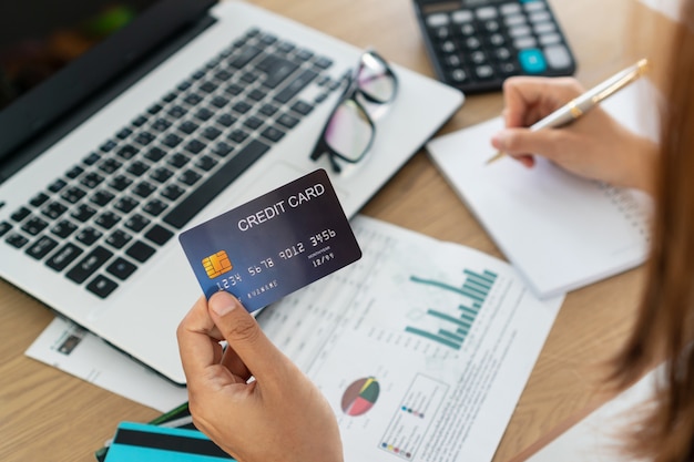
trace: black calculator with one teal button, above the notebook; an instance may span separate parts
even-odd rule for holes
[[[414,0],[439,80],[463,93],[511,75],[572,75],[575,60],[547,0]]]

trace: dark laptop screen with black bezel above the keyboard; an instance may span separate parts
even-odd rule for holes
[[[173,32],[198,19],[211,3],[0,2],[0,164]]]

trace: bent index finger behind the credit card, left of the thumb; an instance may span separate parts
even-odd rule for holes
[[[222,360],[222,346],[211,332],[215,325],[207,311],[207,301],[201,297],[178,325],[178,353],[187,381],[201,377],[204,370]]]

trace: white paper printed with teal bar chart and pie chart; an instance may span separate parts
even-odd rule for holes
[[[328,399],[347,462],[490,461],[563,296],[471,248],[351,225],[361,259],[266,308],[263,330]]]

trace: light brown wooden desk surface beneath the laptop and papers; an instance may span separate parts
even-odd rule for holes
[[[257,0],[357,47],[432,75],[409,0]],[[576,76],[593,84],[629,63],[623,45],[629,0],[552,0],[578,61]],[[609,10],[609,11],[606,11]],[[600,11],[600,14],[596,12]],[[499,93],[469,96],[440,133],[491,116]],[[364,213],[430,236],[501,256],[423,152],[365,207]],[[567,263],[570,264],[570,263]],[[605,399],[600,378],[629,331],[642,269],[570,294],[518,404],[494,461],[508,461],[570,415]],[[92,461],[122,420],[159,412],[23,356],[53,315],[0,281],[0,460]]]

